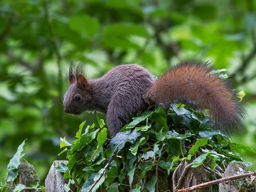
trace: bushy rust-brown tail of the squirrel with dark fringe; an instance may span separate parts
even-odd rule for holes
[[[191,103],[209,109],[210,119],[225,133],[243,130],[246,111],[237,100],[230,80],[213,73],[207,62],[183,61],[161,75],[146,93],[154,103]]]

